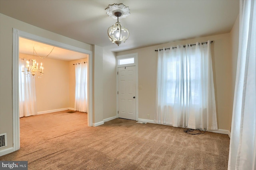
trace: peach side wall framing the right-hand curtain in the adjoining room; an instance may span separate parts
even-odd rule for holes
[[[87,61],[86,59],[82,60],[76,60],[76,61],[70,61],[68,63],[68,69],[69,69],[69,105],[68,107],[74,109],[75,107],[75,93],[76,93],[76,72],[75,72],[75,66],[73,64]],[[89,81],[88,81],[89,82]]]

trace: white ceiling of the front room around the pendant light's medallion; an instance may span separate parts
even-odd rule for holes
[[[116,20],[105,8],[114,3],[130,8],[130,15],[119,20],[130,37],[119,47],[107,35]],[[229,33],[239,14],[239,0],[0,0],[0,13],[118,52]]]

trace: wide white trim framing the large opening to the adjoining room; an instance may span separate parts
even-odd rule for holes
[[[44,37],[26,33],[18,29],[13,28],[12,30],[12,130],[13,130],[13,151],[20,149],[20,115],[19,115],[19,37],[24,37],[26,39],[31,39],[33,41],[38,41],[40,43],[45,43],[48,45],[53,45],[63,49],[68,49],[71,51],[76,51],[79,53],[84,53],[88,55],[88,126],[92,126],[92,51],[74,47],[72,45],[67,45],[60,43],[58,41],[53,41]]]

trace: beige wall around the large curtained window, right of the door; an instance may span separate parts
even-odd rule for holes
[[[155,98],[156,98],[156,70],[157,70],[157,52],[156,49],[168,48],[186,43],[205,42],[213,40],[212,43],[212,63],[214,73],[215,98],[217,109],[218,128],[230,130],[230,112],[232,110],[233,92],[232,92],[232,53],[230,44],[230,33],[177,41],[119,52],[116,55],[125,55],[138,53],[138,85],[142,86],[139,90],[139,118],[154,119]]]

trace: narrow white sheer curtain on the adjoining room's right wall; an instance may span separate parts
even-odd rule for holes
[[[75,65],[76,94],[75,110],[87,112],[87,62]]]

